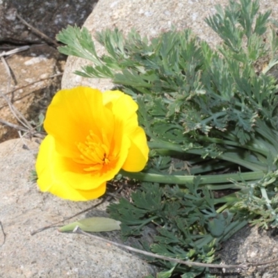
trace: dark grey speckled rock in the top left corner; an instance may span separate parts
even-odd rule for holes
[[[54,39],[68,24],[81,26],[97,0],[2,0],[0,1],[0,42],[44,42],[15,15]]]

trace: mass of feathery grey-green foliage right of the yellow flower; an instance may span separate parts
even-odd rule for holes
[[[132,202],[110,207],[123,236],[139,236],[152,222],[157,235],[145,249],[211,262],[219,243],[247,221],[277,227],[278,87],[271,70],[278,39],[277,23],[270,11],[259,13],[257,0],[217,6],[206,23],[223,40],[216,50],[174,28],[151,41],[136,31],[126,38],[103,31],[101,57],[85,28],[68,27],[58,40],[67,44],[62,53],[92,61],[76,74],[112,79],[139,106],[152,151],[144,172],[129,174],[145,181]],[[159,263],[168,270],[158,277],[213,277],[204,268]]]

